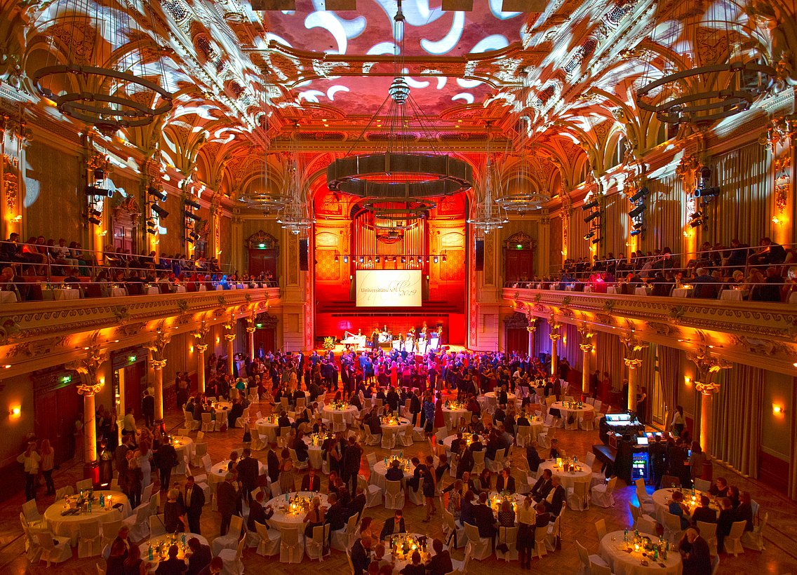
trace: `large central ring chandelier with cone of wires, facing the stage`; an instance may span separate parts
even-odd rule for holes
[[[332,162],[327,169],[329,190],[359,198],[381,198],[411,203],[457,194],[473,186],[473,168],[467,162],[434,149],[434,135],[424,121],[424,114],[414,101],[403,77],[404,14],[397,3],[393,37],[398,39],[394,53],[394,80],[387,97],[371,117],[359,139],[344,158]],[[353,155],[358,143],[375,122],[387,123],[390,131],[387,149]],[[408,132],[414,133],[408,133]],[[432,146],[431,154],[410,150],[410,141],[422,136]]]

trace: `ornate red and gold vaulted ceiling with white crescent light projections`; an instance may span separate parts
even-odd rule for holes
[[[412,95],[437,147],[444,143],[478,166],[489,122],[494,150],[510,152],[512,162],[511,152],[524,143],[547,158],[548,183],[566,189],[583,180],[587,162],[597,173],[611,167],[619,137],[635,156],[658,143],[662,128],[634,105],[642,76],[711,61],[720,51],[699,26],[683,27],[669,45],[651,41],[656,26],[672,25],[677,0],[550,0],[541,14],[504,13],[502,3],[476,0],[473,11],[446,12],[441,0],[404,0]],[[736,7],[734,25],[747,48],[764,61],[774,66],[783,49],[797,44],[791,0],[726,3]],[[120,65],[135,45],[147,55],[124,65],[149,76],[163,68],[174,107],[152,126],[116,137],[142,158],[194,173],[230,195],[257,181],[266,143],[272,152],[300,148],[308,177],[321,174],[363,133],[395,75],[395,0],[357,0],[355,12],[339,13],[320,10],[322,0],[296,0],[292,12],[254,11],[246,0],[77,5],[104,24],[70,20],[66,0],[0,3],[0,79],[18,89],[19,99],[57,117],[31,84],[37,68],[63,60],[68,46],[84,45],[90,60],[98,43],[104,47],[94,54]],[[693,5],[699,12],[711,2]],[[139,35],[108,32],[122,11],[139,23]],[[685,47],[691,59],[679,54]],[[793,57],[781,59],[788,75]],[[377,121],[365,138],[385,135]],[[418,137],[416,146],[429,143]],[[269,163],[279,182],[284,162]]]

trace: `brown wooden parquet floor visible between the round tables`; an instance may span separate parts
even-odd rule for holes
[[[265,404],[259,406],[263,413],[269,409]],[[252,409],[253,412],[257,409]],[[182,417],[177,413],[171,413],[167,417],[167,426],[176,430],[181,423]],[[234,429],[228,432],[216,432],[208,434],[209,452],[212,460],[218,462],[226,458],[231,450],[240,448],[242,431]],[[583,456],[591,445],[598,442],[597,432],[583,431],[562,431],[559,433],[560,447],[568,453],[575,453]],[[387,453],[381,448],[374,449],[377,457],[381,459]],[[413,448],[405,448],[408,456],[421,456],[428,452],[429,446],[425,443],[416,443]],[[513,456],[515,463],[520,461],[522,450],[516,450]],[[597,471],[597,469],[596,469]],[[79,463],[71,466],[61,466],[55,475],[56,487],[75,483],[81,479],[82,466]],[[363,475],[368,475],[370,470],[363,457]],[[797,573],[797,503],[792,502],[783,495],[779,495],[768,487],[752,479],[744,479],[740,475],[724,469],[715,464],[714,474],[725,475],[730,479],[730,483],[740,486],[741,490],[752,493],[753,499],[761,505],[761,510],[769,513],[769,526],[765,533],[767,538],[767,549],[764,552],[745,550],[739,557],[721,557],[719,573]],[[183,479],[176,476],[176,479]],[[297,479],[298,481],[298,479]],[[450,479],[445,479],[446,484]],[[324,482],[325,483],[325,482]],[[326,488],[325,484],[322,488]],[[650,491],[650,488],[649,488]],[[40,490],[43,493],[44,489]],[[0,504],[0,573],[45,573],[45,564],[29,565],[24,553],[24,542],[22,530],[19,526],[20,505],[24,499],[23,492],[20,491],[14,497],[7,499]],[[556,553],[549,553],[547,557],[535,559],[532,562],[532,570],[548,573],[577,573],[579,571],[579,558],[575,549],[575,540],[581,542],[590,553],[598,552],[598,537],[595,533],[594,522],[599,518],[605,518],[608,530],[622,529],[630,522],[630,514],[626,502],[636,501],[633,487],[624,487],[615,491],[616,505],[612,509],[601,509],[591,507],[587,511],[577,512],[567,510],[563,517],[562,549]],[[40,495],[38,499],[40,511],[44,511],[53,497]],[[366,514],[374,518],[372,530],[379,533],[381,524],[391,512],[383,507],[371,507],[366,510]],[[404,507],[404,517],[406,519],[407,530],[410,532],[425,533],[432,537],[442,538],[442,518],[438,513],[432,522],[423,523],[422,518],[425,510],[407,501]],[[218,535],[219,515],[210,510],[210,505],[205,508],[202,514],[202,534],[211,539]],[[461,559],[462,550],[453,553],[453,557]],[[50,569],[63,575],[87,575],[96,573],[95,564],[97,558],[77,558],[77,550],[71,561],[61,565],[53,566]],[[332,550],[332,556],[323,562],[310,562],[306,557],[301,565],[286,565],[277,561],[277,558],[266,558],[257,555],[254,550],[245,550],[243,556],[245,570],[248,573],[349,573],[346,557],[340,551]],[[479,575],[482,573],[494,573],[494,569],[503,569],[510,573],[521,573],[517,561],[506,563],[496,558],[485,561],[471,561],[469,573]]]

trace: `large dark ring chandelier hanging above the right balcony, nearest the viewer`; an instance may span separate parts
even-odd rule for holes
[[[660,121],[712,123],[748,110],[775,83],[740,3],[658,2],[656,10],[650,41],[673,55],[637,55],[646,70],[635,100]]]

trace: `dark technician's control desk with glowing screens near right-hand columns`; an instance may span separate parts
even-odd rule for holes
[[[636,413],[631,411],[607,413],[600,420],[599,436],[602,444],[592,446],[606,474],[617,475],[626,483],[636,479],[649,479],[650,456],[648,445],[660,432],[646,432]]]

